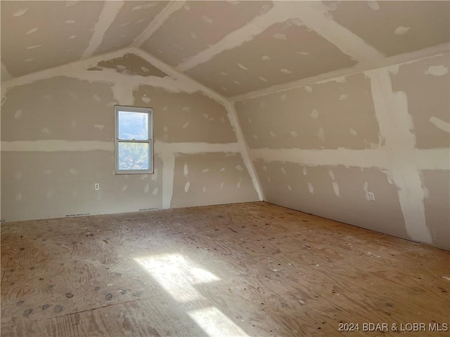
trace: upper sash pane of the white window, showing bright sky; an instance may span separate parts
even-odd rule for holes
[[[148,114],[145,112],[119,112],[119,139],[147,140]]]

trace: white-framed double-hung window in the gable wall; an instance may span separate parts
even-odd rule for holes
[[[115,173],[153,173],[153,109],[115,106]]]

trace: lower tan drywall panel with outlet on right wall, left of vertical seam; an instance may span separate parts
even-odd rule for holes
[[[406,237],[397,187],[378,169],[262,160],[255,166],[269,202]],[[368,190],[377,202],[368,202]]]

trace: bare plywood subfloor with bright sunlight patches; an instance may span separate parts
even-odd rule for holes
[[[6,223],[1,336],[448,336],[449,256],[262,202]]]

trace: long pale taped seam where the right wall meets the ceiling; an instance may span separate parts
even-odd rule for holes
[[[394,65],[404,65],[411,62],[417,62],[419,60],[424,60],[427,58],[433,58],[435,56],[444,55],[449,53],[450,44],[441,44],[439,46],[434,46],[430,48],[422,49],[421,51],[414,51],[411,53],[404,53],[397,56],[392,56],[385,58],[380,61],[380,67],[391,67]],[[351,68],[345,68],[340,70],[333,70],[331,72],[326,72],[324,74],[319,74],[314,77],[307,77],[305,79],[300,79],[297,81],[290,81],[285,84],[277,84],[275,86],[270,86],[269,88],[259,89],[256,91],[251,91],[250,93],[244,93],[243,95],[236,95],[229,100],[231,102],[236,102],[239,100],[248,100],[250,98],[257,98],[264,95],[270,95],[271,93],[276,93],[280,91],[285,91],[293,88],[299,88],[305,85],[317,84],[325,81],[333,81],[338,77],[347,77],[354,74],[359,74],[361,72],[366,72],[368,70],[380,69],[380,67],[374,67],[372,64],[359,63]]]

